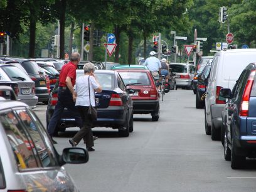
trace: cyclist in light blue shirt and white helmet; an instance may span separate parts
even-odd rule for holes
[[[161,73],[161,63],[158,58],[156,58],[156,52],[151,51],[149,53],[150,57],[148,57],[144,63],[145,66],[149,69],[154,79],[159,79],[159,74]]]

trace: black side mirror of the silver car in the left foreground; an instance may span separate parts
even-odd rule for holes
[[[64,163],[80,164],[89,160],[88,152],[80,147],[68,147],[63,149],[62,160]]]

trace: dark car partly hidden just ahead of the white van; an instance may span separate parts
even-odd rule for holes
[[[208,61],[204,67],[203,72],[198,75],[198,83],[196,85],[196,109],[203,109],[205,107],[206,87],[211,71],[211,60]],[[211,134],[208,132],[208,134]]]

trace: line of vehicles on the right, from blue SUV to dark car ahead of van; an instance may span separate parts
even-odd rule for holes
[[[243,168],[247,157],[256,157],[255,58],[256,49],[219,51],[198,78],[199,92],[201,85],[206,86],[205,132],[212,140],[221,140],[232,169]]]

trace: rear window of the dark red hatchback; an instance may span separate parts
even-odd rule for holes
[[[119,72],[124,84],[138,83],[139,85],[151,85],[146,72]]]

